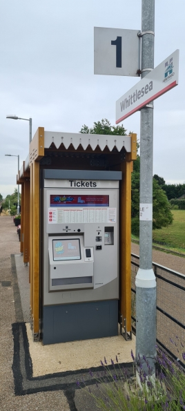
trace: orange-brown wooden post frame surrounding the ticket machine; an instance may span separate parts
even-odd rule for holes
[[[23,258],[24,262],[30,262],[30,314],[32,321],[32,332],[35,341],[39,338],[39,304],[40,304],[40,292],[39,284],[41,275],[40,270],[40,204],[39,204],[39,175],[40,169],[52,168],[52,166],[41,166],[39,160],[43,157],[47,157],[48,151],[56,153],[92,153],[90,146],[84,151],[82,147],[78,147],[77,150],[74,147],[69,146],[68,150],[59,147],[51,146],[50,149],[44,151],[44,128],[39,127],[37,133],[30,143],[30,173],[27,171],[27,175],[19,179],[19,182],[23,184]],[[99,147],[95,149],[94,153],[101,153]],[[115,153],[104,150],[104,155],[113,157]],[[119,153],[117,154],[119,157]],[[130,248],[131,248],[131,173],[133,171],[133,160],[137,157],[137,135],[131,135],[131,152],[126,153],[125,160],[121,160],[117,164],[111,165],[111,170],[122,171],[122,180],[120,184],[120,242],[119,242],[119,255],[120,255],[120,296],[119,296],[119,310],[123,318],[126,318],[126,331],[131,331],[131,274],[130,274]],[[44,161],[43,161],[44,163]],[[60,163],[61,164],[61,163]],[[65,168],[66,161],[63,162]],[[79,159],[72,160],[72,166],[77,169],[88,169],[87,160]],[[57,160],[55,163],[57,166]],[[59,166],[57,166],[59,168]],[[90,169],[90,166],[89,166]],[[30,181],[28,179],[28,175]],[[27,178],[27,180],[26,180]],[[29,195],[30,193],[30,195]],[[30,224],[27,224],[30,218]],[[22,217],[21,217],[22,219]],[[29,229],[26,229],[28,227]],[[29,253],[30,249],[30,253]]]

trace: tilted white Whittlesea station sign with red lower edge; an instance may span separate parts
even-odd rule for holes
[[[117,100],[116,124],[177,86],[178,77],[179,50],[176,50]]]

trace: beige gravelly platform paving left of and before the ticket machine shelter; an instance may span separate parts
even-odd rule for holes
[[[126,342],[119,335],[99,341],[77,341],[74,346],[47,346],[46,352],[41,342],[32,343],[29,267],[23,264],[11,217],[0,217],[0,233],[0,410],[95,411],[93,397],[79,389],[77,381],[83,379],[95,390],[89,367],[94,375],[101,372],[103,354],[113,359],[117,355],[120,363],[132,372],[129,358],[135,339]],[[65,345],[68,359],[64,364]]]

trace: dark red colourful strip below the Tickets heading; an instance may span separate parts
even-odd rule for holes
[[[50,207],[109,207],[109,195],[51,194]]]

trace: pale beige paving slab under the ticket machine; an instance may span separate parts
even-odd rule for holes
[[[109,338],[43,345],[41,342],[32,341],[30,324],[26,324],[26,330],[32,359],[32,376],[99,367],[104,357],[109,365],[111,359],[116,362],[116,356],[119,363],[130,363],[130,352],[135,352],[135,336],[132,341],[126,341],[119,334]]]

